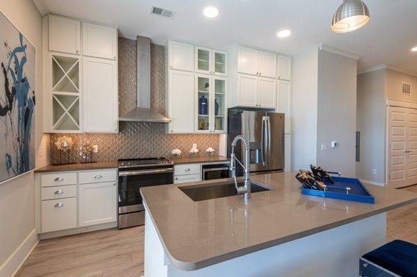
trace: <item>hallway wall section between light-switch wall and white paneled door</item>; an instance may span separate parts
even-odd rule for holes
[[[357,76],[357,131],[361,132],[361,155],[357,178],[385,183],[386,112],[385,69]],[[373,174],[377,169],[377,174]]]

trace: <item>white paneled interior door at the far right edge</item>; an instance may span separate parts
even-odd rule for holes
[[[389,107],[388,113],[389,185],[413,185],[417,183],[417,110]]]

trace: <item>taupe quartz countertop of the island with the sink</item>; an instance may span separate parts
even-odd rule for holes
[[[180,186],[140,189],[165,253],[174,267],[195,270],[306,237],[417,201],[417,194],[366,184],[375,204],[306,196],[296,172],[251,176],[269,192],[194,202]]]

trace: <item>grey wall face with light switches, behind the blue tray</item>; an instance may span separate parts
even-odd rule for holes
[[[318,51],[316,165],[343,176],[355,176],[357,60]],[[338,146],[331,148],[331,142]],[[321,144],[327,150],[321,151]]]

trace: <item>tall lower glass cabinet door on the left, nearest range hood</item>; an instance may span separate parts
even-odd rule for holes
[[[211,131],[211,76],[196,74],[195,84],[197,90],[196,108],[197,120],[195,121],[197,133],[210,133]]]

